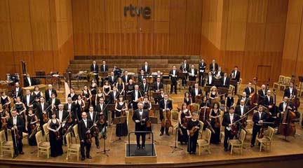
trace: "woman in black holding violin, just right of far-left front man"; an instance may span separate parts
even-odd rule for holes
[[[33,113],[32,108],[29,109],[28,114],[25,118],[25,130],[27,131],[27,134],[30,135],[34,130],[32,129],[37,129],[36,128],[36,123],[38,123],[38,117],[36,114]],[[36,146],[36,137],[32,136],[31,138],[28,139],[29,146]]]

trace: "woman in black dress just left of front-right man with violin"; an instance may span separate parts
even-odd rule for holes
[[[210,110],[210,125],[215,130],[215,134],[212,134],[210,137],[210,143],[213,144],[220,144],[220,118],[221,118],[221,111],[219,109],[220,104],[215,102],[213,104],[213,109]]]

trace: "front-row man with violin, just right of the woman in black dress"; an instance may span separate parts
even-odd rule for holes
[[[238,130],[238,123],[234,124],[237,120],[239,120],[240,117],[238,114],[234,113],[234,107],[231,106],[229,108],[229,113],[226,113],[222,120],[222,126],[225,127],[224,129],[224,151],[229,151],[230,146],[228,145],[228,141],[231,139],[234,139],[234,134],[232,134],[232,126],[236,127],[236,130]],[[229,147],[229,148],[228,148]]]

